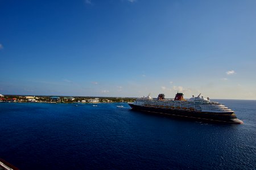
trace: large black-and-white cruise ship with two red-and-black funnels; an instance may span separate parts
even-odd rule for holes
[[[188,100],[183,99],[183,94],[179,92],[177,92],[174,99],[164,99],[164,94],[159,94],[158,99],[152,99],[148,95],[128,104],[136,111],[170,114],[172,116],[196,118],[202,121],[243,123],[237,118],[232,109],[218,102],[210,101],[209,97],[204,99],[200,95],[192,96]]]

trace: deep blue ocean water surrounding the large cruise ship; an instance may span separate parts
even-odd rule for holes
[[[146,114],[126,103],[0,103],[0,158],[20,169],[256,169],[256,101],[218,101],[244,124]]]

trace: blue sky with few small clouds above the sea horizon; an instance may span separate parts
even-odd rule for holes
[[[0,0],[0,94],[256,99],[256,1]]]

